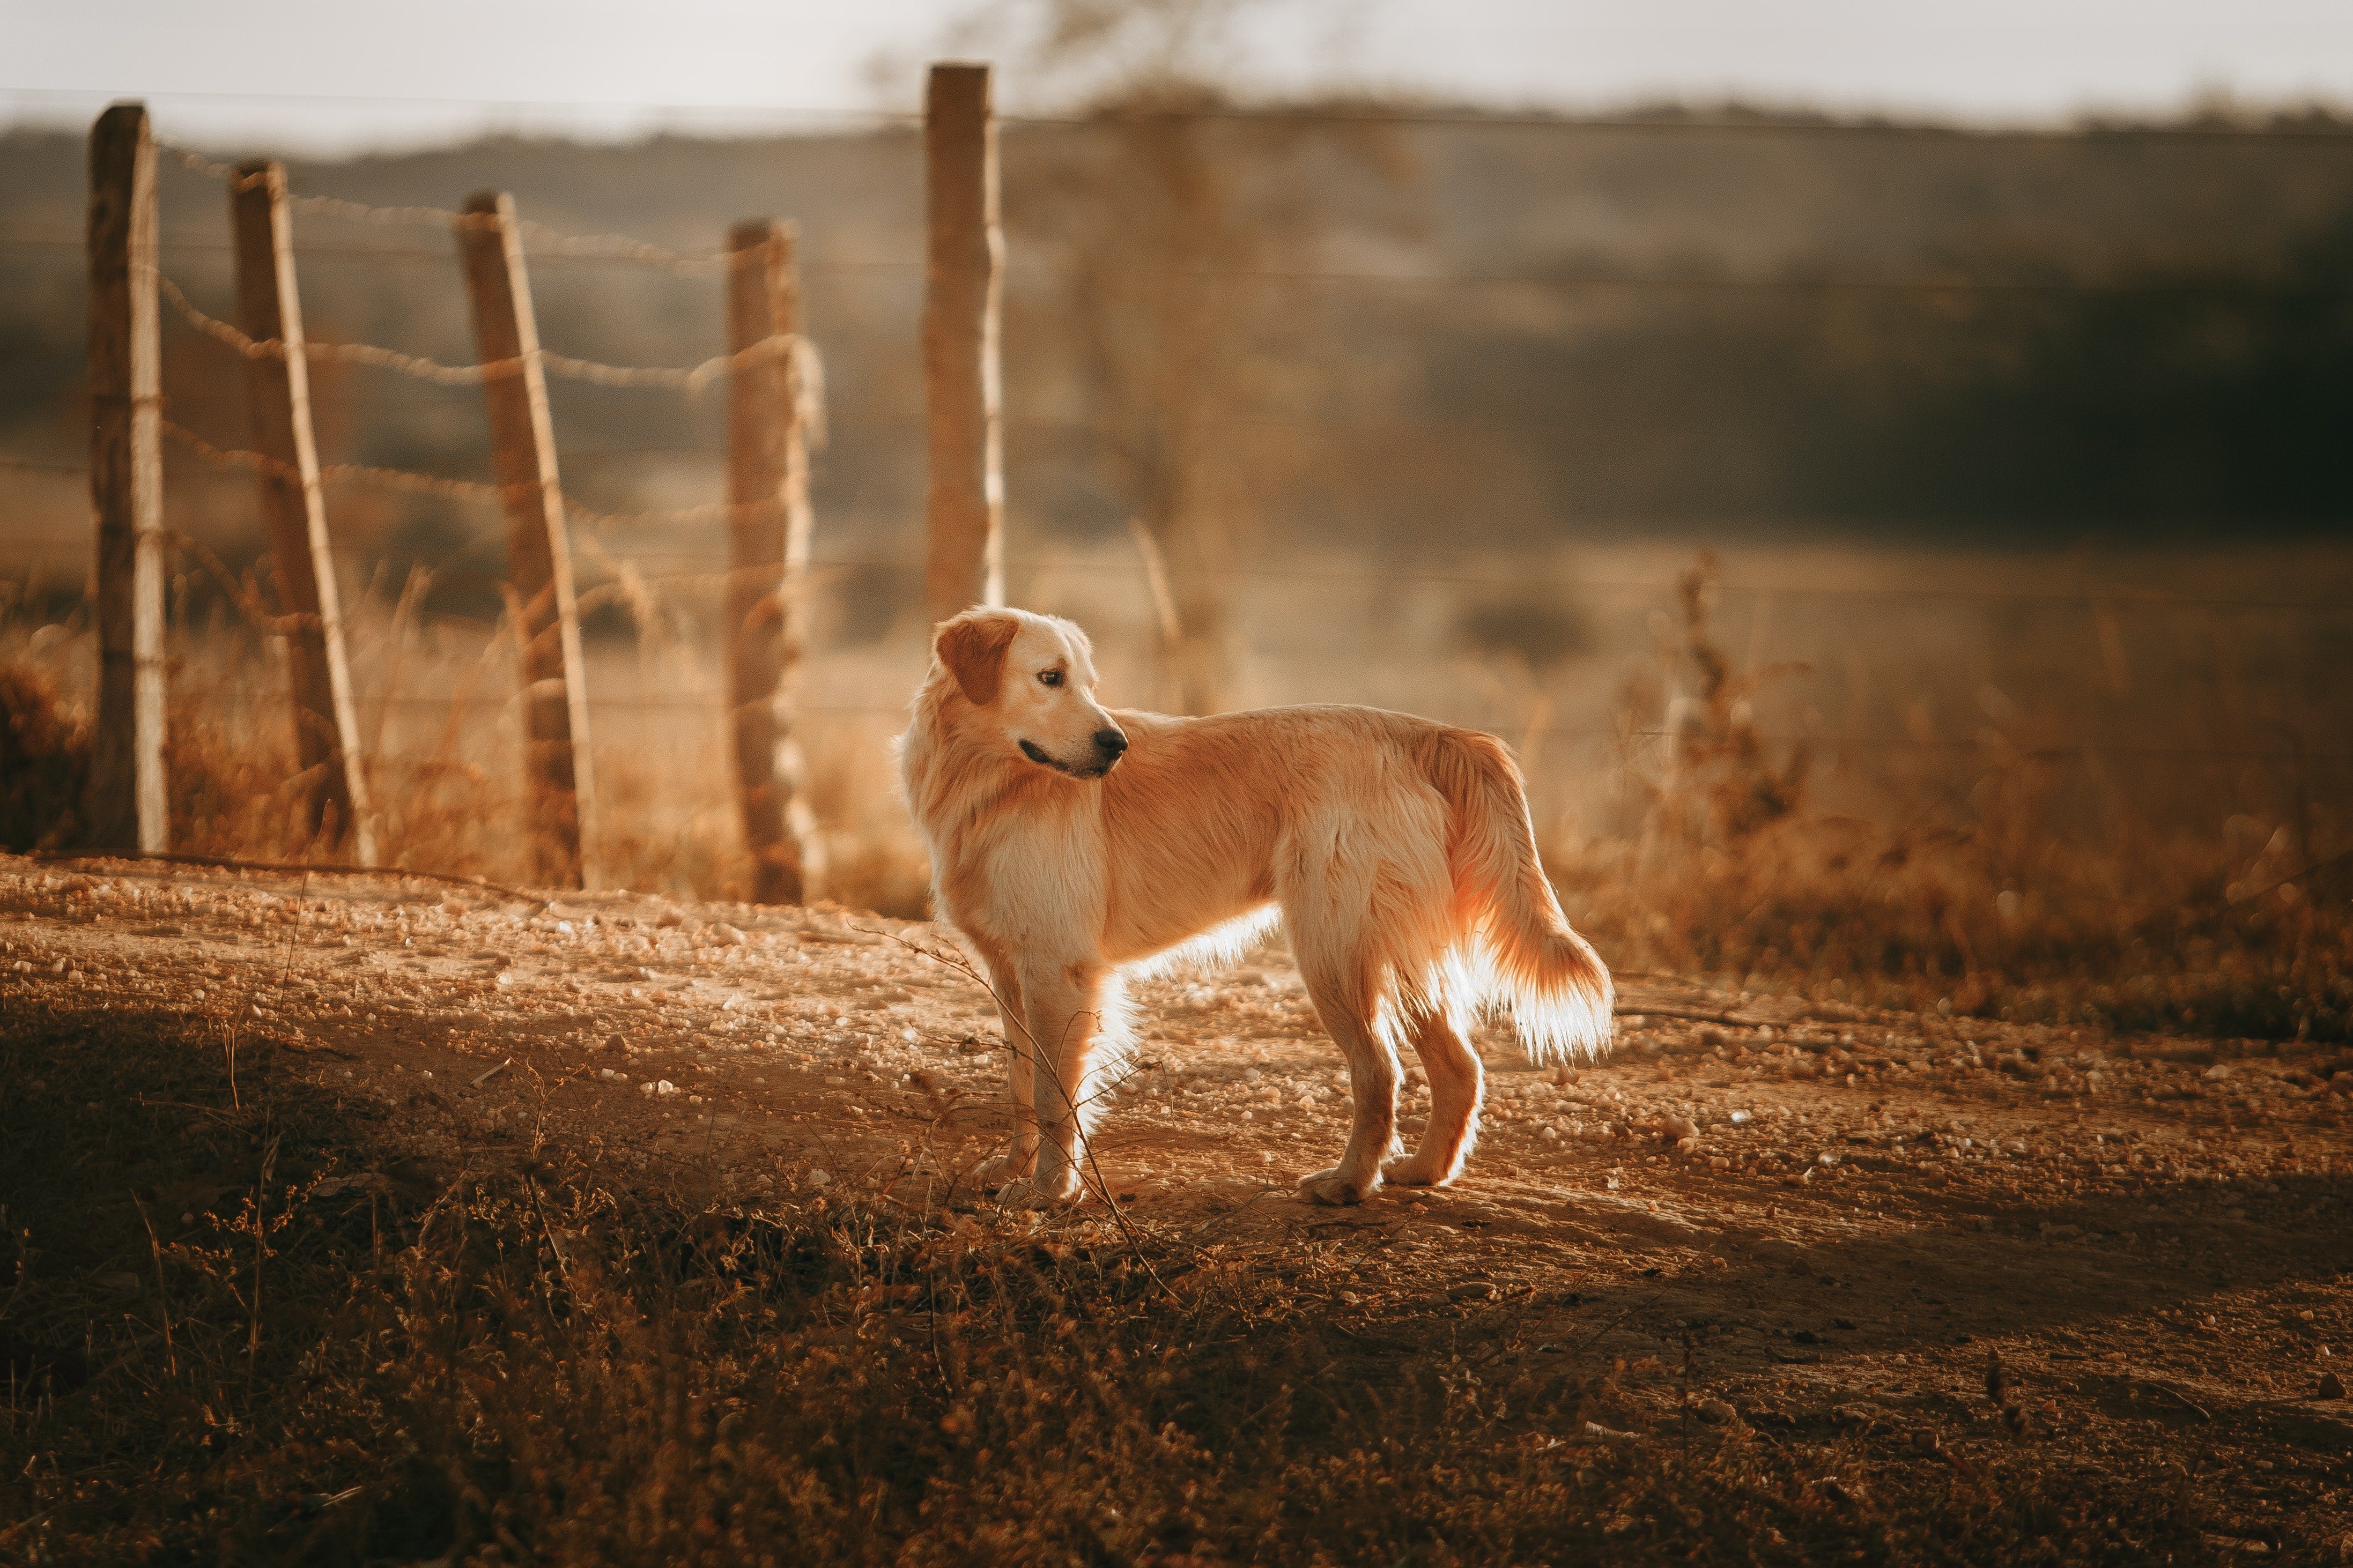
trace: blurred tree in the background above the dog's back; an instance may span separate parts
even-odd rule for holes
[[[1268,275],[1313,266],[1325,181],[1402,169],[1384,127],[1240,113],[1212,85],[1266,2],[1012,0],[965,33],[1014,40],[1024,87],[1075,103],[1007,150],[1007,226],[1042,266],[1007,294],[1007,402],[1061,423],[1158,545],[1176,614],[1158,701],[1176,712],[1233,698],[1235,571],[1318,468],[1306,421],[1266,418],[1325,390],[1315,313]]]

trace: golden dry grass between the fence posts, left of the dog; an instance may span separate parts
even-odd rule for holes
[[[5,599],[0,599],[5,602]],[[75,844],[87,752],[89,637],[80,616],[42,628],[0,621],[0,844]],[[285,656],[233,616],[179,639],[169,719],[172,846],[268,860],[336,860],[301,818]],[[527,882],[513,646],[499,625],[424,618],[412,602],[353,616],[353,668],[379,844],[393,865]],[[635,656],[591,656],[598,693],[595,882],[741,900],[751,865],[727,795],[713,661],[647,635]],[[927,872],[894,811],[889,703],[807,719],[809,799],[833,865],[828,893],[920,914]],[[21,736],[19,736],[21,731]]]

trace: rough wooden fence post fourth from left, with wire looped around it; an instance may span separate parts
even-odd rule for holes
[[[807,903],[824,842],[802,795],[793,733],[809,571],[809,428],[802,404],[793,230],[774,219],[727,233],[727,350],[774,343],[727,374],[727,705],[753,903]]]

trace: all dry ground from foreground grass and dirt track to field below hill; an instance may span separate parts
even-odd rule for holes
[[[1151,703],[1129,555],[1016,576]],[[831,903],[751,910],[706,578],[591,588],[553,896],[496,886],[511,642],[355,595],[386,839],[449,879],[0,858],[0,1561],[2353,1561],[2348,578],[1271,559],[1233,701],[1513,741],[1619,1046],[1485,1041],[1457,1190],[1311,1208],[1346,1086],[1282,952],[1153,983],[1047,1218],[969,1182],[918,628],[826,599]],[[174,846],[339,858],[271,639],[179,604]],[[87,668],[0,614],[5,849],[71,846]]]

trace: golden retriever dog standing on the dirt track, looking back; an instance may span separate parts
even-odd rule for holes
[[[936,912],[1005,1023],[1000,1201],[1080,1197],[1078,1143],[1129,1046],[1122,971],[1240,952],[1278,917],[1355,1098],[1339,1164],[1299,1182],[1318,1201],[1461,1173],[1480,1013],[1508,1011],[1537,1063],[1609,1041],[1609,971],[1562,919],[1492,736],[1377,708],[1111,712],[1082,630],[972,609],[934,632],[899,764]],[[1412,1154],[1400,1041],[1431,1079]]]

